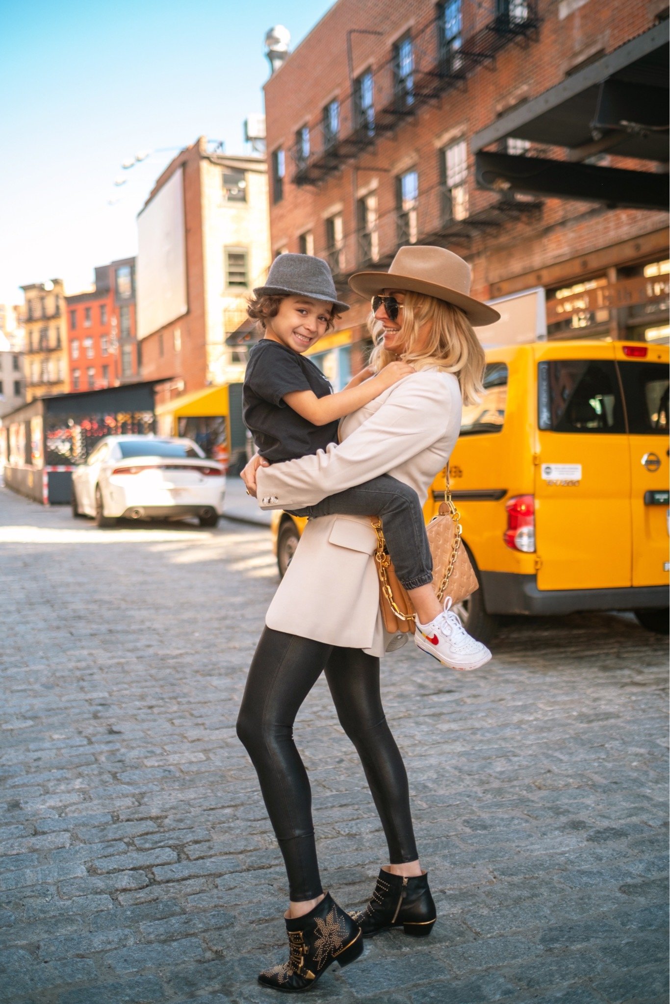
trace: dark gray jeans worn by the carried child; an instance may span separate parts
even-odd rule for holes
[[[433,581],[433,559],[419,496],[390,474],[329,495],[293,516],[379,516],[398,578],[406,589]]]

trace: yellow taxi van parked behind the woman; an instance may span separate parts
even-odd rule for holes
[[[479,589],[458,612],[488,642],[501,614],[633,610],[668,632],[668,346],[535,341],[486,352],[450,460]],[[444,497],[444,475],[424,507]],[[303,520],[275,513],[279,573]]]

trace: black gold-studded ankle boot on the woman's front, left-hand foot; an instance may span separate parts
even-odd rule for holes
[[[295,993],[308,990],[333,962],[347,966],[363,952],[361,928],[329,893],[303,917],[286,920],[288,962],[263,970],[264,987]]]

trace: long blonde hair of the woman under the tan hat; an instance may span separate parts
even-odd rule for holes
[[[428,322],[428,337],[423,347],[419,348],[419,329]],[[397,354],[384,347],[384,327],[374,314],[370,315],[368,327],[375,342],[370,363],[379,372],[388,362],[397,358]],[[411,362],[417,369],[437,366],[446,372],[455,373],[463,404],[477,403],[483,391],[481,382],[486,358],[472,324],[462,310],[434,296],[406,292],[400,335],[405,348],[398,354],[402,354],[406,362]]]

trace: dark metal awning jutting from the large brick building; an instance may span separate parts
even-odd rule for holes
[[[611,152],[667,164],[668,37],[663,21],[476,133],[471,146],[481,187],[666,209],[667,175],[582,162]],[[563,147],[568,158],[501,153],[507,138]],[[495,152],[485,150],[491,145]]]

